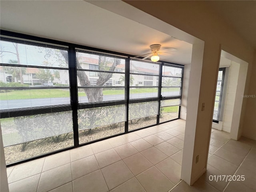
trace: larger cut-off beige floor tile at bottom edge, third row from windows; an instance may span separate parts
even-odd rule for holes
[[[107,192],[108,186],[100,170],[73,181],[74,192]]]

